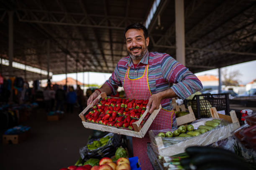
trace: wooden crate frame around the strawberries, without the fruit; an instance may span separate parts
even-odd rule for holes
[[[96,99],[100,100],[100,98],[103,99],[105,97],[107,97],[106,93],[101,93]],[[107,125],[101,125],[101,124],[97,124],[97,123],[86,122],[85,118],[84,118],[84,114],[92,106],[93,106],[92,104],[88,105],[79,114],[79,117],[82,119],[82,124],[84,125],[84,128],[89,128],[89,129],[94,129],[94,130],[101,130],[101,131],[106,131],[106,132],[112,132],[112,133],[117,133],[117,134],[120,134],[120,135],[133,136],[133,137],[136,137],[136,138],[143,138],[146,135],[146,133],[148,131],[148,128],[150,127],[151,123],[154,121],[156,115],[158,114],[159,110],[161,109],[161,105],[160,105],[159,109],[154,110],[154,112],[148,117],[148,119],[145,122],[145,124],[143,125],[143,127],[141,127],[140,123],[143,120],[143,118],[147,115],[147,113],[148,113],[148,109],[147,109],[138,121],[132,123],[133,128],[134,128],[134,131],[133,131],[133,130],[126,130],[126,129],[122,129],[122,128],[111,127],[111,126],[107,126]]]

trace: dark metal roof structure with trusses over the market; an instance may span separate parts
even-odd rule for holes
[[[158,7],[154,0],[1,0],[0,57],[9,58],[13,15],[13,61],[42,70],[49,63],[54,75],[111,73],[127,56],[125,27],[145,23],[151,14],[149,50],[176,58],[175,1],[157,1]],[[184,0],[184,18],[186,67],[192,72],[256,60],[255,0]],[[14,69],[13,75],[23,72]],[[7,66],[2,74],[8,75]],[[28,75],[38,79],[38,73]]]

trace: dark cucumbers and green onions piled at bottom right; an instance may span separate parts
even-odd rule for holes
[[[171,157],[159,155],[158,161],[166,170],[251,170],[243,158],[222,148],[192,146]]]

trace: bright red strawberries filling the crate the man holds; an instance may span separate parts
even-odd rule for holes
[[[147,104],[148,100],[105,97],[84,117],[87,122],[134,130],[132,123],[143,115]],[[141,121],[141,126],[145,120]]]

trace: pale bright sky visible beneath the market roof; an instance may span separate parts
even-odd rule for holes
[[[256,79],[256,60],[251,61],[251,62],[244,62],[241,64],[236,64],[236,65],[231,65],[228,67],[223,67],[227,68],[228,72],[236,71],[239,70],[241,73],[241,76],[237,77],[240,84],[246,85],[248,82],[251,82],[252,80]],[[221,68],[221,69],[223,69]],[[198,72],[195,73],[195,75],[215,75],[218,76],[218,69],[213,69],[213,70],[208,70],[204,72]],[[89,79],[88,79],[89,76]],[[77,73],[77,79],[78,81],[84,83],[84,84],[98,84],[102,85],[108,78],[111,76],[110,73],[97,73],[97,72],[84,72],[84,79],[83,79],[83,73],[79,72]],[[76,73],[71,73],[68,74],[67,77],[72,77],[76,79]],[[65,79],[66,76],[65,74],[61,75],[53,75],[52,76],[52,81],[60,81]]]

